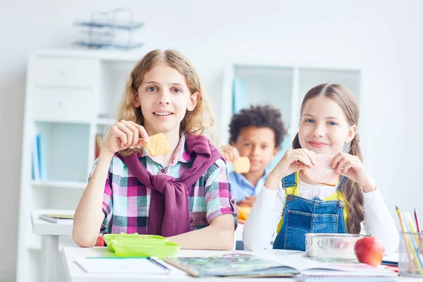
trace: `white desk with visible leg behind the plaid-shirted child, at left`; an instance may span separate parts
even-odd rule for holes
[[[39,219],[39,214],[73,214],[73,210],[35,209],[32,211],[32,232],[42,235],[41,274],[42,281],[57,281],[57,260],[59,258],[59,236],[71,236],[73,224],[52,223]]]

